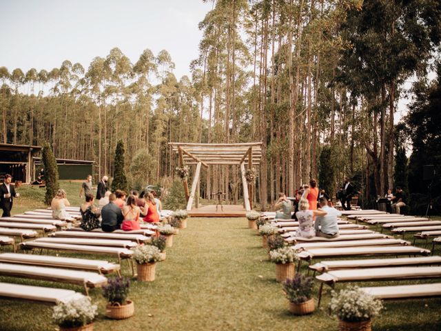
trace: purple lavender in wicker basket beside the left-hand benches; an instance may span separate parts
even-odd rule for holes
[[[135,311],[132,300],[127,300],[130,280],[125,277],[112,277],[103,286],[103,297],[107,300],[105,316],[110,319],[128,319]]]

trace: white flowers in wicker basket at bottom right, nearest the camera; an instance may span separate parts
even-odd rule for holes
[[[332,293],[329,311],[339,319],[341,331],[371,331],[372,317],[382,309],[382,301],[358,287],[348,287]]]

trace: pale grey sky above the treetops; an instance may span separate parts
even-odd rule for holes
[[[201,0],[0,0],[0,66],[51,70],[68,59],[87,70],[118,47],[133,62],[167,50],[179,79],[198,57]]]

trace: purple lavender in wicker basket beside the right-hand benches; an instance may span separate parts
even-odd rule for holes
[[[283,292],[289,301],[289,311],[295,315],[311,314],[316,309],[312,297],[312,277],[296,274],[283,283]]]

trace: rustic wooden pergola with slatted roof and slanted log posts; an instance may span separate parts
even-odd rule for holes
[[[252,209],[253,183],[247,184],[245,163],[248,169],[260,164],[262,143],[169,143],[169,145],[178,154],[181,168],[184,165],[196,165],[191,192],[188,190],[187,178],[183,179],[187,210],[192,210],[201,167],[208,168],[209,165],[240,165],[245,210]]]

